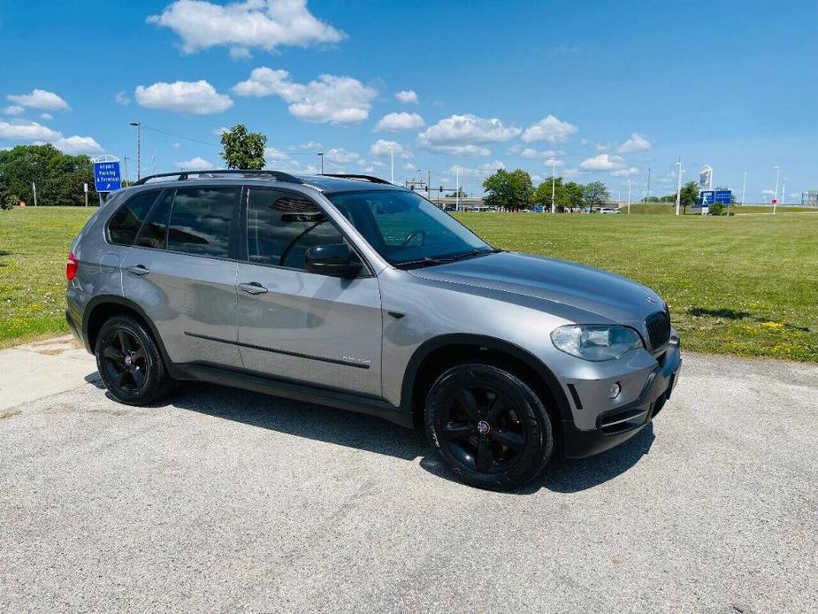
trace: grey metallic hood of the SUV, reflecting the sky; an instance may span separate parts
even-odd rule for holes
[[[417,277],[529,295],[591,311],[618,323],[644,321],[665,308],[650,288],[565,260],[499,252],[410,271]]]

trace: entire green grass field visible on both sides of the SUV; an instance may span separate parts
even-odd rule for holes
[[[0,213],[0,346],[64,333],[65,256],[94,208]],[[818,213],[462,213],[493,245],[619,272],[664,296],[687,349],[818,362]]]

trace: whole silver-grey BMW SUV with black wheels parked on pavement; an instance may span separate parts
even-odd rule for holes
[[[88,221],[66,276],[122,403],[205,380],[361,411],[497,490],[638,433],[681,365],[649,288],[494,249],[369,176],[155,175]]]

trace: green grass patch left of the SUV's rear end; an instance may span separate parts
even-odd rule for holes
[[[0,211],[0,347],[66,333],[65,257],[96,207]]]

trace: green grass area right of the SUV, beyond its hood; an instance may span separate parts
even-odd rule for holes
[[[818,362],[818,214],[457,217],[496,247],[654,288],[687,349]]]

